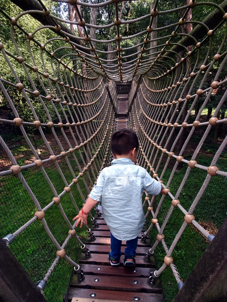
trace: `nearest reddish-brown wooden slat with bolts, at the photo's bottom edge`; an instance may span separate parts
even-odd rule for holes
[[[134,297],[140,298],[140,302],[163,302],[163,298],[161,294],[152,294],[152,293],[130,293],[123,291],[101,291],[101,290],[93,290],[93,289],[81,289],[81,288],[70,288],[68,298],[69,300],[72,297],[90,297],[90,294],[95,294],[93,297],[96,299],[112,299],[114,301],[133,301]],[[95,301],[95,300],[94,300]]]

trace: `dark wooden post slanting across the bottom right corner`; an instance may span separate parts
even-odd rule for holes
[[[227,300],[227,219],[173,302]],[[187,265],[185,263],[185,265]]]

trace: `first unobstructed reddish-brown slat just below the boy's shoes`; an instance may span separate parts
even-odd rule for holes
[[[148,278],[150,272],[154,269],[145,267],[127,267],[127,266],[110,266],[110,265],[95,265],[81,264],[85,275],[104,275],[104,276],[119,276],[119,277],[144,277]],[[99,268],[99,269],[97,269]],[[101,268],[101,269],[100,269]]]

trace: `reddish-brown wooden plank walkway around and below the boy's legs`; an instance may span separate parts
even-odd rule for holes
[[[86,246],[91,257],[81,255],[80,266],[84,270],[84,280],[78,281],[75,275],[69,288],[69,302],[163,302],[162,290],[159,280],[150,284],[148,277],[155,270],[154,258],[149,262],[144,260],[144,254],[150,246],[138,239],[136,267],[124,267],[123,243],[120,266],[113,267],[107,257],[110,251],[110,231],[104,218],[97,217],[98,227],[93,227],[96,239],[88,237]]]

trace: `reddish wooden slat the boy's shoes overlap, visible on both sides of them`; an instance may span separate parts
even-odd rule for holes
[[[123,265],[124,255],[120,258],[120,265]],[[150,257],[149,261],[144,260],[144,256],[136,256],[136,265],[138,267],[152,267],[155,268],[154,258]],[[85,254],[81,255],[79,263],[84,264],[100,264],[100,265],[110,265],[110,260],[107,257],[107,254],[91,254],[90,258],[86,258]]]

